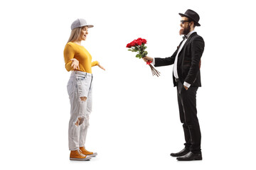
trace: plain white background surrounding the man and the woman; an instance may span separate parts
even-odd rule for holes
[[[180,16],[196,11],[206,47],[198,89],[203,161],[183,149],[172,66],[149,66],[126,45],[145,38],[151,57],[181,42]],[[250,169],[255,166],[255,8],[252,1],[1,1],[1,169]],[[70,162],[70,103],[63,49],[85,18],[93,67],[90,162]],[[3,168],[4,167],[4,168]]]

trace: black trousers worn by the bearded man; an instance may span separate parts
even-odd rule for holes
[[[178,109],[186,143],[186,149],[197,154],[201,153],[201,130],[196,110],[196,91],[198,87],[190,87],[186,90],[177,80]]]

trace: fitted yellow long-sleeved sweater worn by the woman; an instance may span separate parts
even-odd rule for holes
[[[92,67],[99,64],[99,62],[92,62],[92,56],[90,53],[82,47],[81,45],[75,44],[74,42],[68,42],[64,49],[64,60],[65,68],[68,70],[73,70],[71,67],[72,61],[70,59],[75,58],[79,61],[80,72],[92,73]]]

